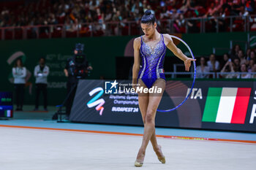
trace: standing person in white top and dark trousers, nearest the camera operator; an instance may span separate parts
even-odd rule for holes
[[[44,97],[44,109],[47,111],[47,77],[49,72],[49,67],[45,66],[45,58],[39,58],[39,65],[34,67],[34,77],[36,77],[36,103],[34,111],[38,110],[40,92],[42,92]]]

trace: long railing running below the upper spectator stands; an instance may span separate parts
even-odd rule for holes
[[[159,31],[165,33],[205,33],[219,31],[256,31],[256,15],[211,18],[184,18],[177,23],[174,19],[157,21]],[[140,35],[138,21],[105,23],[73,23],[45,26],[1,27],[0,39],[39,39],[83,36]]]

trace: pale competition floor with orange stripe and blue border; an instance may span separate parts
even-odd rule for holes
[[[0,121],[0,170],[255,169],[256,134],[157,128],[166,163],[149,143],[143,167],[136,168],[142,127],[56,123],[50,112],[33,113],[43,119],[22,114],[31,113]]]

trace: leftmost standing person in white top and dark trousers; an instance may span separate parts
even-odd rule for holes
[[[23,66],[20,58],[15,62],[15,66],[12,67],[12,76],[14,78],[15,98],[17,104],[16,111],[22,111],[26,84],[26,67]]]

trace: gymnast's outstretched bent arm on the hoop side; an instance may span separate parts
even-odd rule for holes
[[[191,61],[196,61],[196,59],[188,58],[186,55],[184,55],[184,53],[182,53],[182,51],[173,43],[173,39],[169,34],[164,34],[164,39],[165,42],[167,42],[166,47],[171,50],[174,55],[184,61],[185,70],[188,72],[189,67],[191,66]]]

